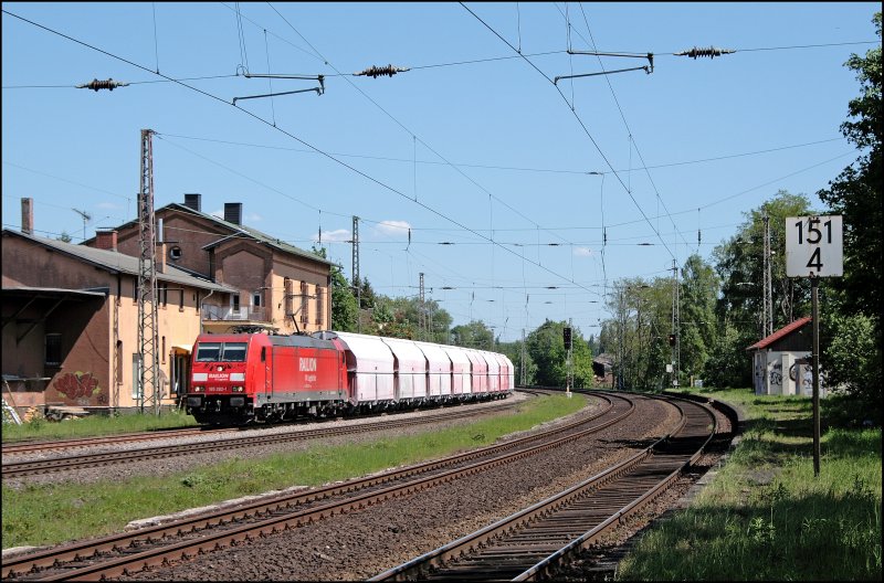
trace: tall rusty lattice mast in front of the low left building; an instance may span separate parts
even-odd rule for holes
[[[157,359],[157,234],[154,219],[154,130],[141,130],[141,188],[138,192],[138,404],[145,412],[150,399],[154,414],[159,414],[159,367]]]

